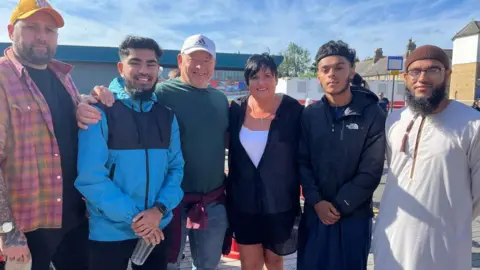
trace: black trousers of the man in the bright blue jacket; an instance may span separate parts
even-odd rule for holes
[[[166,270],[169,247],[169,228],[163,230],[165,240],[157,245],[142,266],[132,265],[133,270]],[[90,240],[89,270],[125,270],[137,245],[138,239],[103,242]]]

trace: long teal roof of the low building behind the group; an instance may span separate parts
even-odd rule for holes
[[[10,43],[0,42],[0,50],[5,50]],[[177,66],[177,55],[180,51],[164,50],[161,58],[162,66]],[[248,57],[251,54],[217,53],[217,69],[243,70]],[[55,58],[64,62],[94,62],[94,63],[117,63],[118,48],[58,45]],[[280,65],[282,56],[274,56],[275,63]]]

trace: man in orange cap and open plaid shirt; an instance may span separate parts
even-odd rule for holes
[[[86,269],[88,221],[74,187],[80,100],[53,59],[62,16],[45,0],[20,0],[0,58],[0,236],[7,260],[32,270]],[[8,187],[8,189],[7,189]]]

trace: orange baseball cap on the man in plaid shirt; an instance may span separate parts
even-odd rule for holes
[[[62,15],[46,0],[20,0],[10,17],[10,24],[14,24],[18,20],[26,19],[39,11],[50,14],[55,19],[58,28],[65,25]]]

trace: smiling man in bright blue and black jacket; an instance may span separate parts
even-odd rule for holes
[[[119,48],[113,106],[79,132],[78,178],[90,214],[90,270],[125,270],[140,237],[156,244],[142,266],[167,269],[168,224],[183,198],[178,123],[153,95],[162,50],[149,38]]]

